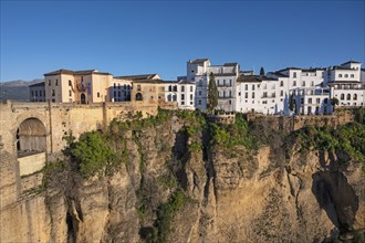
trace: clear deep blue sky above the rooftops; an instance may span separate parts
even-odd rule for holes
[[[0,81],[59,68],[176,80],[199,57],[257,73],[365,63],[364,23],[364,0],[1,0]]]

